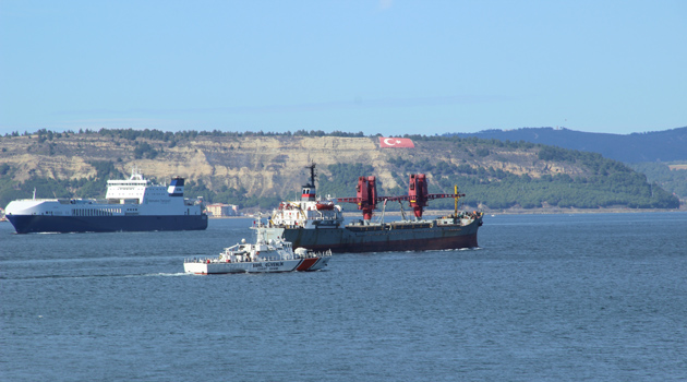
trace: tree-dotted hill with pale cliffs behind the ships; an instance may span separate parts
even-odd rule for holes
[[[359,176],[375,175],[379,194],[406,194],[408,175],[427,174],[430,192],[454,184],[480,208],[678,207],[643,175],[599,154],[526,142],[412,136],[415,148],[379,148],[377,136],[100,130],[0,138],[0,204],[29,198],[103,198],[105,182],[136,165],[167,183],[189,179],[186,193],[208,202],[274,207],[294,198],[314,162],[320,192],[355,194]],[[433,202],[451,207],[453,201]],[[350,206],[348,210],[354,210]]]

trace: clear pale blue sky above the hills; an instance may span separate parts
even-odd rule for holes
[[[687,126],[687,1],[0,0],[0,134]]]

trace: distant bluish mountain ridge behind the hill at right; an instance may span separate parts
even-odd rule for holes
[[[607,158],[625,163],[687,160],[687,127],[627,135],[588,133],[553,128],[484,130],[477,133],[445,135],[542,143],[563,148],[600,153]]]

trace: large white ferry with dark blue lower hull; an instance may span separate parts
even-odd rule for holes
[[[183,198],[184,179],[153,184],[134,167],[131,177],[108,180],[105,200],[33,199],[10,202],[5,216],[17,234],[201,230],[202,201]]]

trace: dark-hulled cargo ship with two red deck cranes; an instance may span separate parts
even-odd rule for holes
[[[294,248],[340,252],[425,251],[478,247],[478,229],[483,213],[458,211],[458,199],[465,194],[427,193],[423,174],[409,178],[408,195],[377,196],[375,177],[360,177],[355,198],[321,198],[315,189],[315,165],[310,168],[310,181],[302,187],[301,200],[281,202],[267,224],[266,237],[282,238]],[[454,198],[454,213],[425,219],[422,217],[427,201]],[[387,202],[401,204],[401,220],[384,223]],[[409,203],[413,216],[406,216],[402,203]],[[338,203],[355,203],[363,219],[345,224],[343,208]],[[383,203],[382,216],[372,219],[374,210]]]

